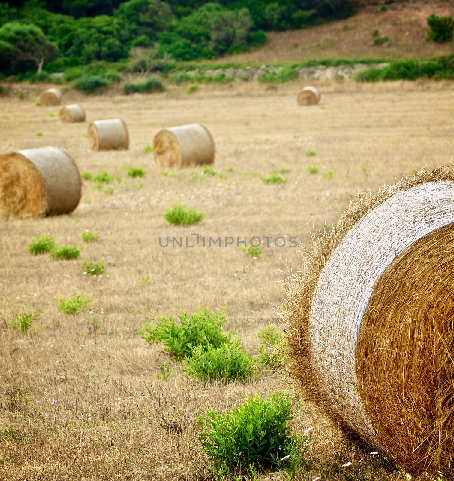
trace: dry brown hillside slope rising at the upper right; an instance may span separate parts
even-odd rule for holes
[[[336,57],[422,58],[454,53],[453,42],[426,41],[426,17],[431,13],[453,15],[449,1],[415,0],[388,4],[386,12],[368,6],[345,20],[301,30],[269,32],[259,49],[220,59],[220,62],[297,62],[305,59]],[[372,43],[372,31],[386,35],[382,46]]]

